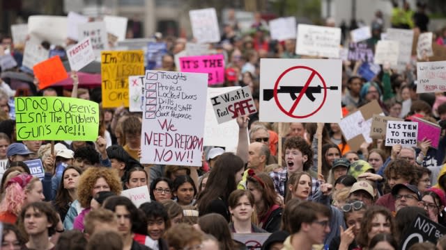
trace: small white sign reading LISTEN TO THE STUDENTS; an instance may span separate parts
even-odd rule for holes
[[[400,144],[403,147],[416,147],[417,138],[417,122],[387,121],[387,131],[385,131],[385,146]]]

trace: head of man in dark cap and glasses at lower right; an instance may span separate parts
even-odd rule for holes
[[[408,183],[394,185],[392,195],[395,199],[395,212],[407,206],[423,207],[420,191],[415,185]]]

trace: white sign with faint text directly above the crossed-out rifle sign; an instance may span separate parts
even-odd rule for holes
[[[295,53],[306,56],[339,58],[341,28],[298,25],[298,40]]]

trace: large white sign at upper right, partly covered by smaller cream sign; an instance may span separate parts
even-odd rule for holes
[[[413,30],[403,28],[387,28],[385,40],[399,42],[398,68],[406,68],[412,57]],[[392,65],[392,64],[390,64]]]

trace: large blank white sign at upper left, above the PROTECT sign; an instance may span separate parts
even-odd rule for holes
[[[55,45],[65,43],[67,26],[67,17],[33,15],[28,18],[28,33]]]

